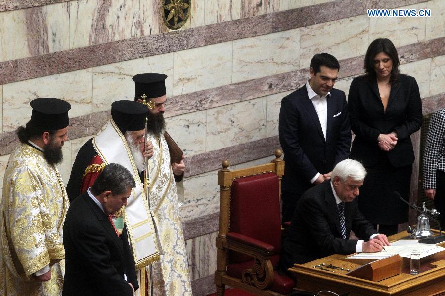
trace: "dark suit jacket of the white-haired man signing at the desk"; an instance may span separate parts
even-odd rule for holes
[[[363,240],[378,233],[358,210],[356,200],[345,202],[346,237],[352,231]],[[337,203],[330,180],[312,187],[300,198],[283,242],[280,266],[306,263],[332,254],[356,252],[357,240],[341,238]]]

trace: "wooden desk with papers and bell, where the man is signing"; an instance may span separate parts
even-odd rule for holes
[[[395,234],[389,237],[390,241],[399,239],[406,239],[408,233],[406,231]],[[440,244],[445,247],[445,242]],[[360,278],[346,275],[346,269],[354,270],[356,267],[366,264],[358,260],[346,259],[345,255],[334,254],[322,259],[318,259],[306,264],[294,264],[290,268],[296,276],[296,290],[306,290],[318,292],[321,290],[329,290],[337,294],[350,292],[349,296],[430,296],[430,295],[445,295],[445,265],[431,268],[428,264],[431,261],[439,261],[445,259],[442,251],[438,255],[427,260],[421,260],[420,273],[417,275],[409,274],[409,259],[402,258],[401,274],[381,280],[379,282],[372,282]],[[368,262],[370,260],[367,260]],[[320,270],[314,268],[318,264],[325,263],[334,266],[343,267],[345,271],[324,268]],[[340,274],[338,273],[340,272]]]

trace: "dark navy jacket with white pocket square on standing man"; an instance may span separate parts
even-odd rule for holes
[[[349,156],[351,128],[345,93],[333,88],[330,94],[326,140],[306,85],[281,101],[279,137],[285,160],[281,184],[284,191],[305,192],[317,172],[328,173]]]

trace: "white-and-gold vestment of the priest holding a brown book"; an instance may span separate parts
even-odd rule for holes
[[[164,251],[161,261],[152,264],[153,294],[190,296],[190,274],[169,148],[163,135],[159,138],[148,135],[148,140],[152,141],[154,147],[154,154],[149,159],[150,209],[157,222]],[[149,290],[149,285],[145,289]]]

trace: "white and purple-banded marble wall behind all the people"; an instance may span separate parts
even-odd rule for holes
[[[348,94],[363,73],[368,44],[388,37],[401,71],[417,79],[424,113],[445,107],[445,2],[382,2],[192,0],[189,20],[175,32],[163,25],[158,0],[0,3],[0,183],[32,99],[72,105],[59,166],[66,183],[77,151],[105,123],[111,103],[133,99],[131,77],[165,73],[167,126],[187,163],[181,215],[189,265],[196,283],[208,280],[216,264],[221,160],[235,169],[273,158],[280,101],[306,82],[314,53],[340,60],[336,88]],[[432,16],[365,14],[396,7],[431,9]]]

